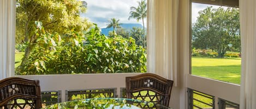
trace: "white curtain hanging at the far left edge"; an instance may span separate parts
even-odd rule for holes
[[[14,75],[15,3],[0,1],[0,80]]]

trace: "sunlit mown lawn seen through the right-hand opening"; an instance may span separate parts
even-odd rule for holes
[[[192,57],[192,74],[240,84],[241,58]]]

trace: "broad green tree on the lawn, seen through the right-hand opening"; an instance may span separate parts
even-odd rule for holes
[[[227,50],[240,52],[239,9],[207,7],[192,27],[192,46],[212,49],[223,57]]]

